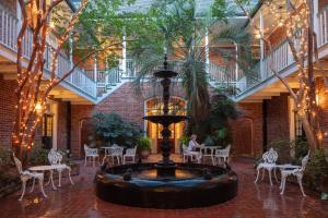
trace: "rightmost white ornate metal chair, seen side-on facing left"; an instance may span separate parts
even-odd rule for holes
[[[296,169],[282,169],[281,170],[281,183],[280,183],[280,190],[281,190],[280,194],[281,195],[283,195],[283,193],[284,193],[286,178],[289,175],[295,175],[297,178],[300,190],[301,190],[303,196],[306,196],[305,193],[304,193],[302,179],[303,179],[303,173],[304,173],[304,170],[306,168],[308,158],[309,158],[309,152],[307,153],[307,155],[305,157],[303,157],[302,166],[300,166],[300,168],[296,168]]]

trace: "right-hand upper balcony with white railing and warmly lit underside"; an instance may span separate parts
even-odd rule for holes
[[[319,51],[318,55],[319,59],[323,59],[328,55],[328,5],[320,9],[315,22],[315,32],[317,33]],[[263,96],[263,98],[256,97],[256,94],[261,90],[269,93],[274,93],[277,90],[280,93],[286,92],[285,87],[280,84],[277,76],[274,76],[271,71],[271,65],[282,77],[285,77],[292,88],[297,88],[296,76],[294,76],[294,73],[297,71],[296,64],[288,41],[283,40],[273,49],[273,52],[270,56],[265,57],[261,63],[259,63],[257,66],[258,74],[255,78],[244,75],[238,80],[238,83],[243,85],[238,87],[239,94],[234,97],[235,100],[256,102],[257,100],[270,97],[266,95],[260,95]],[[255,95],[255,97],[251,97],[251,95]]]

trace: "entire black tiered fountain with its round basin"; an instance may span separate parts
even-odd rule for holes
[[[168,126],[187,119],[168,112],[171,78],[177,73],[164,68],[154,73],[163,86],[163,114],[143,119],[163,126],[159,162],[102,166],[95,175],[95,193],[107,202],[148,208],[191,208],[224,203],[238,192],[238,179],[230,168],[169,159]]]

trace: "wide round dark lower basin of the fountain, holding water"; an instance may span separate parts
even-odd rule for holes
[[[176,164],[175,175],[156,173],[156,164],[133,164],[99,170],[95,175],[96,195],[110,203],[147,208],[191,208],[224,203],[238,192],[235,172],[222,167]],[[212,179],[203,177],[209,169]],[[131,180],[124,180],[131,169]]]

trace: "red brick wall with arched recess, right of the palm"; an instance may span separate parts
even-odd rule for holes
[[[259,157],[262,154],[263,142],[262,104],[239,102],[238,109],[242,112],[242,116],[237,120],[231,122],[234,155]],[[245,147],[245,144],[247,144],[247,146],[250,145],[251,148]],[[245,152],[248,152],[248,154],[245,154]]]

